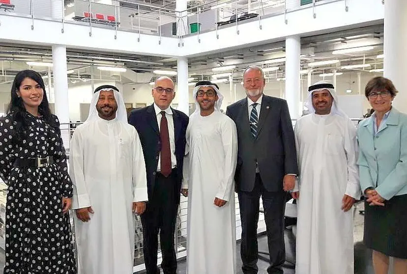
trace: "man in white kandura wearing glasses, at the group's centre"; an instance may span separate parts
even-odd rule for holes
[[[198,82],[193,96],[181,189],[188,195],[187,274],[234,274],[236,126],[220,111],[216,84]]]

